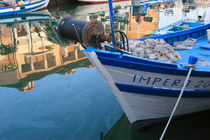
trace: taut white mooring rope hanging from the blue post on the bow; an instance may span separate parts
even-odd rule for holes
[[[177,106],[178,106],[178,104],[179,104],[179,101],[180,101],[180,99],[181,99],[181,97],[182,97],[182,94],[184,93],[184,90],[185,90],[186,85],[187,85],[187,83],[188,83],[188,80],[189,80],[189,78],[190,78],[190,74],[191,74],[192,70],[195,69],[195,65],[190,65],[190,66],[188,66],[188,67],[189,67],[190,69],[189,69],[189,71],[188,71],[188,74],[187,74],[187,77],[186,77],[186,79],[185,79],[184,85],[182,86],[182,89],[181,89],[181,92],[180,92],[180,94],[179,94],[179,97],[178,97],[178,99],[177,99],[177,101],[176,101],[176,104],[175,104],[175,106],[174,106],[174,108],[173,108],[173,111],[172,111],[172,113],[171,113],[171,115],[170,115],[170,118],[168,119],[168,122],[167,122],[167,124],[166,124],[166,126],[165,126],[165,129],[164,129],[164,131],[163,131],[163,133],[162,133],[162,135],[161,135],[161,137],[160,137],[159,140],[162,140],[162,139],[163,139],[163,137],[164,137],[164,135],[165,135],[165,133],[166,133],[166,130],[167,130],[167,128],[168,128],[168,126],[169,126],[169,124],[170,124],[170,122],[171,122],[171,119],[172,119],[172,117],[173,117],[173,115],[174,115],[174,113],[175,113],[175,111],[176,111],[176,108],[177,108]]]

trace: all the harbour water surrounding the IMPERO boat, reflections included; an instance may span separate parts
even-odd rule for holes
[[[209,7],[209,0],[118,2],[115,28],[129,39],[145,37],[208,13]],[[57,34],[59,20],[69,15],[100,20],[110,32],[107,4],[60,5],[0,18],[0,140],[158,139],[164,124],[135,131],[79,43]],[[204,112],[175,120],[165,138],[208,140],[209,118],[210,112]]]

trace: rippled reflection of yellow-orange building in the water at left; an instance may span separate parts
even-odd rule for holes
[[[68,75],[77,67],[91,67],[79,43],[65,43],[55,24],[47,10],[0,24],[1,86],[28,92],[35,88],[34,80],[49,74]]]

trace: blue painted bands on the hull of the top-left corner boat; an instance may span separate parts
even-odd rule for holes
[[[23,4],[23,5],[17,5],[16,8],[22,8],[22,7],[26,7],[26,6],[31,6],[31,5],[35,5],[35,4],[39,4],[39,3],[42,3],[42,2],[45,2],[46,0],[40,0],[38,2],[33,2],[33,3],[30,3],[30,4]],[[47,1],[46,1],[47,2]],[[20,9],[20,10],[13,10],[13,11],[10,11],[10,12],[1,12],[1,10],[5,10],[5,9],[13,9],[11,6],[6,6],[6,7],[1,7],[0,8],[0,16],[5,16],[5,15],[11,15],[11,14],[19,14],[19,13],[24,13],[24,12],[28,12],[28,11],[31,11],[31,10],[34,10],[34,9],[37,9],[41,6],[45,5],[44,4],[39,4],[35,7],[32,7],[32,8],[26,8],[26,9]]]

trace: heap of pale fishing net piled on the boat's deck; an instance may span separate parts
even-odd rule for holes
[[[178,52],[163,39],[131,40],[129,46],[134,56],[171,63],[181,59]]]

